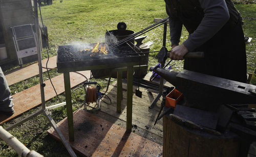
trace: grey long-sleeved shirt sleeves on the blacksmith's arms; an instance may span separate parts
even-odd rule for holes
[[[225,0],[198,0],[204,12],[204,17],[198,28],[183,42],[184,46],[193,51],[203,43],[214,36],[228,21],[229,12]],[[168,6],[166,6],[168,7]],[[182,30],[182,21],[172,15],[166,9],[169,15],[170,41],[173,44],[179,44]]]

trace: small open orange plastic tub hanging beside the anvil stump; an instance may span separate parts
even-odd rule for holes
[[[165,98],[166,107],[176,107],[176,104],[183,98],[183,94],[177,89],[173,89]]]

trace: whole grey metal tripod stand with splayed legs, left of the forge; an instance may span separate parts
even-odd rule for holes
[[[69,145],[69,143],[67,142],[67,140],[65,139],[65,137],[63,136],[63,134],[61,133],[61,131],[59,130],[58,126],[56,125],[56,123],[54,122],[54,120],[52,119],[48,109],[50,108],[56,108],[59,106],[63,106],[66,105],[66,103],[60,103],[60,104],[56,104],[50,107],[46,107],[46,102],[45,102],[45,91],[44,91],[44,87],[45,87],[45,83],[44,80],[42,79],[42,62],[41,62],[41,47],[40,47],[40,30],[39,30],[39,24],[38,24],[38,11],[37,11],[37,0],[33,0],[32,1],[32,5],[33,5],[33,9],[34,9],[34,16],[35,16],[35,32],[36,32],[36,43],[37,43],[37,56],[38,56],[38,68],[39,68],[39,78],[40,78],[40,91],[41,91],[41,106],[42,108],[37,110],[35,113],[31,114],[29,117],[20,120],[19,122],[5,128],[6,130],[11,130],[13,128],[15,128],[16,126],[25,123],[26,121],[32,119],[33,117],[43,114],[45,115],[49,122],[51,123],[52,127],[54,128],[54,130],[57,132],[58,136],[61,139],[61,142],[63,143],[63,145],[66,147],[66,149],[68,150],[69,154],[71,156],[76,156],[75,152],[73,151],[73,149],[71,148],[71,146]]]

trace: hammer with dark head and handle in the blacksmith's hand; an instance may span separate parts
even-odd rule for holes
[[[158,62],[159,63],[165,63],[165,60],[169,58],[170,51],[167,51],[165,47],[162,47],[160,51],[158,52]],[[185,54],[184,58],[203,58],[204,52],[188,52]]]

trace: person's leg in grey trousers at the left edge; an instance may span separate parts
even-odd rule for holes
[[[10,88],[0,67],[0,112],[8,116],[14,113]]]

